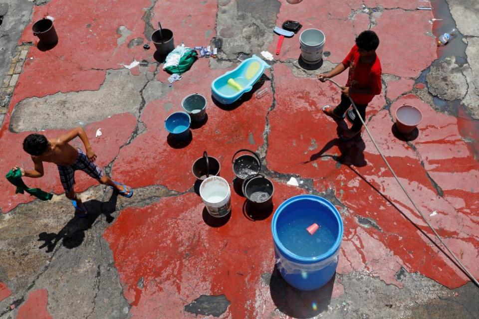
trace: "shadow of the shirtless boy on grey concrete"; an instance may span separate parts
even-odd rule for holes
[[[113,192],[110,199],[106,202],[96,199],[84,202],[88,216],[84,218],[74,216],[57,234],[47,232],[38,234],[38,241],[43,241],[38,248],[46,247],[47,253],[52,252],[61,239],[63,239],[63,246],[68,249],[80,246],[85,238],[85,231],[91,228],[100,215],[105,215],[107,223],[111,223],[114,220],[111,214],[116,210],[117,198],[118,193]]]

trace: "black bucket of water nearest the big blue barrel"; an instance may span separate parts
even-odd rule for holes
[[[243,194],[251,204],[251,208],[263,210],[273,203],[274,186],[272,181],[262,174],[248,176],[243,182]]]

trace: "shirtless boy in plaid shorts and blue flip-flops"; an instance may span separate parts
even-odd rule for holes
[[[83,142],[86,154],[80,149],[75,149],[68,144],[68,142],[76,137],[79,137]],[[55,163],[58,166],[58,172],[60,173],[61,184],[65,189],[65,195],[71,200],[73,207],[75,207],[75,215],[79,217],[86,217],[88,212],[73,189],[73,185],[75,184],[75,170],[83,170],[98,180],[99,183],[111,186],[122,196],[131,197],[133,195],[133,189],[131,187],[114,182],[110,177],[104,175],[103,171],[93,163],[96,160],[96,154],[93,152],[88,137],[81,127],[51,140],[47,140],[45,136],[40,134],[30,134],[23,140],[23,150],[31,155],[34,169],[25,170],[22,167],[15,166],[13,170],[20,169],[22,176],[38,178],[43,176],[43,162]]]

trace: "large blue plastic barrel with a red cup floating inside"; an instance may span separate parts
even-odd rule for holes
[[[306,228],[312,223],[319,229],[310,235]],[[343,222],[328,200],[315,195],[287,199],[274,212],[271,231],[277,268],[289,285],[315,290],[334,276]]]

